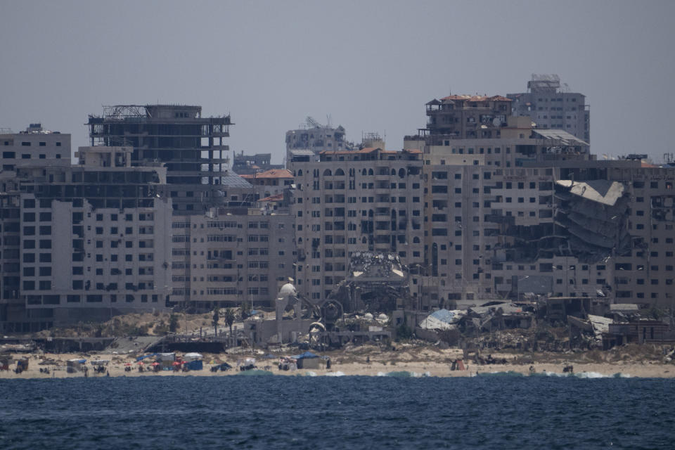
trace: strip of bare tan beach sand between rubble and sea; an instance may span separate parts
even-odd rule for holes
[[[344,351],[326,352],[331,360],[330,369],[325,365],[320,368],[298,369],[297,371],[279,371],[278,359],[260,359],[259,354],[204,354],[204,368],[200,371],[149,371],[149,364],[143,366],[143,372],[139,371],[139,364],[136,363],[136,355],[119,354],[12,354],[14,359],[21,357],[29,358],[29,366],[22,373],[15,373],[13,370],[0,371],[0,379],[5,378],[82,378],[84,373],[67,373],[66,364],[69,359],[86,359],[87,377],[99,378],[107,376],[106,373],[94,373],[91,361],[97,359],[107,359],[107,373],[110,377],[153,377],[153,376],[230,376],[240,373],[236,367],[237,361],[246,357],[257,357],[257,368],[270,371],[275,375],[366,375],[378,376],[391,372],[407,371],[416,375],[426,375],[434,377],[468,377],[475,376],[477,373],[496,373],[496,372],[517,372],[523,375],[531,373],[530,367],[534,368],[536,373],[558,373],[563,374],[563,368],[568,365],[574,366],[574,373],[579,375],[585,373],[589,378],[600,376],[612,376],[617,373],[622,376],[638,378],[673,378],[675,376],[675,365],[664,364],[660,361],[617,361],[617,362],[579,362],[572,359],[565,359],[567,355],[554,355],[547,358],[546,355],[537,354],[536,361],[529,360],[531,355],[515,354],[493,354],[496,359],[506,359],[507,364],[476,365],[473,361],[468,361],[467,369],[463,371],[451,371],[450,361],[461,357],[461,351],[458,349],[445,349],[434,351],[415,351],[415,352],[361,352],[358,355],[349,354]],[[549,361],[546,361],[549,359]],[[153,361],[148,359],[147,361]],[[229,371],[212,372],[211,363],[227,362],[233,366]],[[130,364],[131,371],[124,371],[124,368]],[[15,364],[11,366],[15,368]],[[49,373],[44,373],[49,368]],[[43,372],[40,371],[42,369]],[[584,376],[584,375],[581,375]]]

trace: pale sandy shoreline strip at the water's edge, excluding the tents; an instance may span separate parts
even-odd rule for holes
[[[250,355],[247,355],[250,356]],[[83,358],[86,359],[87,371],[86,378],[106,378],[105,373],[94,373],[90,362],[96,359],[109,359],[111,362],[108,366],[108,373],[110,377],[153,377],[153,376],[232,376],[241,373],[236,367],[236,360],[247,357],[245,355],[231,355],[231,354],[216,354],[206,356],[204,358],[204,368],[200,371],[138,371],[138,365],[135,364],[135,356],[131,355],[115,355],[115,354],[12,354],[14,359],[20,357],[28,357],[29,365],[26,371],[22,373],[15,373],[13,370],[0,371],[0,380],[5,379],[48,379],[48,378],[84,378],[83,372],[67,373],[66,361],[68,359]],[[257,368],[259,370],[267,370],[273,375],[307,375],[307,376],[340,376],[340,375],[359,375],[359,376],[382,376],[392,372],[408,372],[413,376],[431,376],[441,378],[454,377],[473,377],[477,374],[489,373],[519,373],[522,375],[531,375],[530,366],[534,368],[536,375],[554,375],[565,376],[568,373],[563,373],[563,368],[567,365],[574,366],[574,375],[581,378],[601,378],[612,377],[621,374],[624,377],[630,378],[675,378],[675,365],[662,363],[660,361],[624,361],[624,362],[600,362],[600,363],[586,363],[574,361],[533,361],[531,364],[517,364],[514,362],[507,362],[507,364],[491,364],[491,365],[476,365],[473,361],[468,361],[468,367],[464,371],[451,371],[450,364],[447,359],[441,360],[439,356],[435,359],[427,359],[422,361],[395,361],[396,354],[377,354],[373,355],[372,361],[366,362],[364,355],[359,355],[364,361],[341,361],[341,359],[354,359],[349,356],[329,355],[331,358],[331,367],[326,369],[323,365],[320,368],[297,369],[296,371],[279,371],[278,360],[276,359],[259,359],[257,361]],[[368,355],[370,356],[370,355]],[[387,356],[389,356],[387,358]],[[442,355],[446,356],[446,355]],[[514,355],[509,355],[512,359]],[[541,356],[540,356],[541,357]],[[210,368],[212,364],[210,361],[218,359],[219,361],[226,361],[233,366],[229,371],[212,372]],[[40,364],[44,361],[50,361],[49,364]],[[125,364],[132,364],[132,370],[125,372]],[[15,364],[12,364],[15,368]],[[49,368],[49,373],[41,373],[40,369]],[[581,374],[581,375],[580,375]],[[402,374],[406,376],[406,374]]]

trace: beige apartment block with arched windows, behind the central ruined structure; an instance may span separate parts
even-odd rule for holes
[[[297,264],[295,287],[324,300],[347,276],[357,252],[395,252],[421,285],[423,179],[419,150],[363,148],[324,151],[319,161],[290,161],[295,176],[292,214]]]

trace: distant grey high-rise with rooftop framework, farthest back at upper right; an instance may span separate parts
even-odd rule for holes
[[[529,117],[538,129],[562,129],[591,142],[591,111],[586,96],[560,84],[558,75],[532,75],[527,92],[506,94],[511,113]]]

